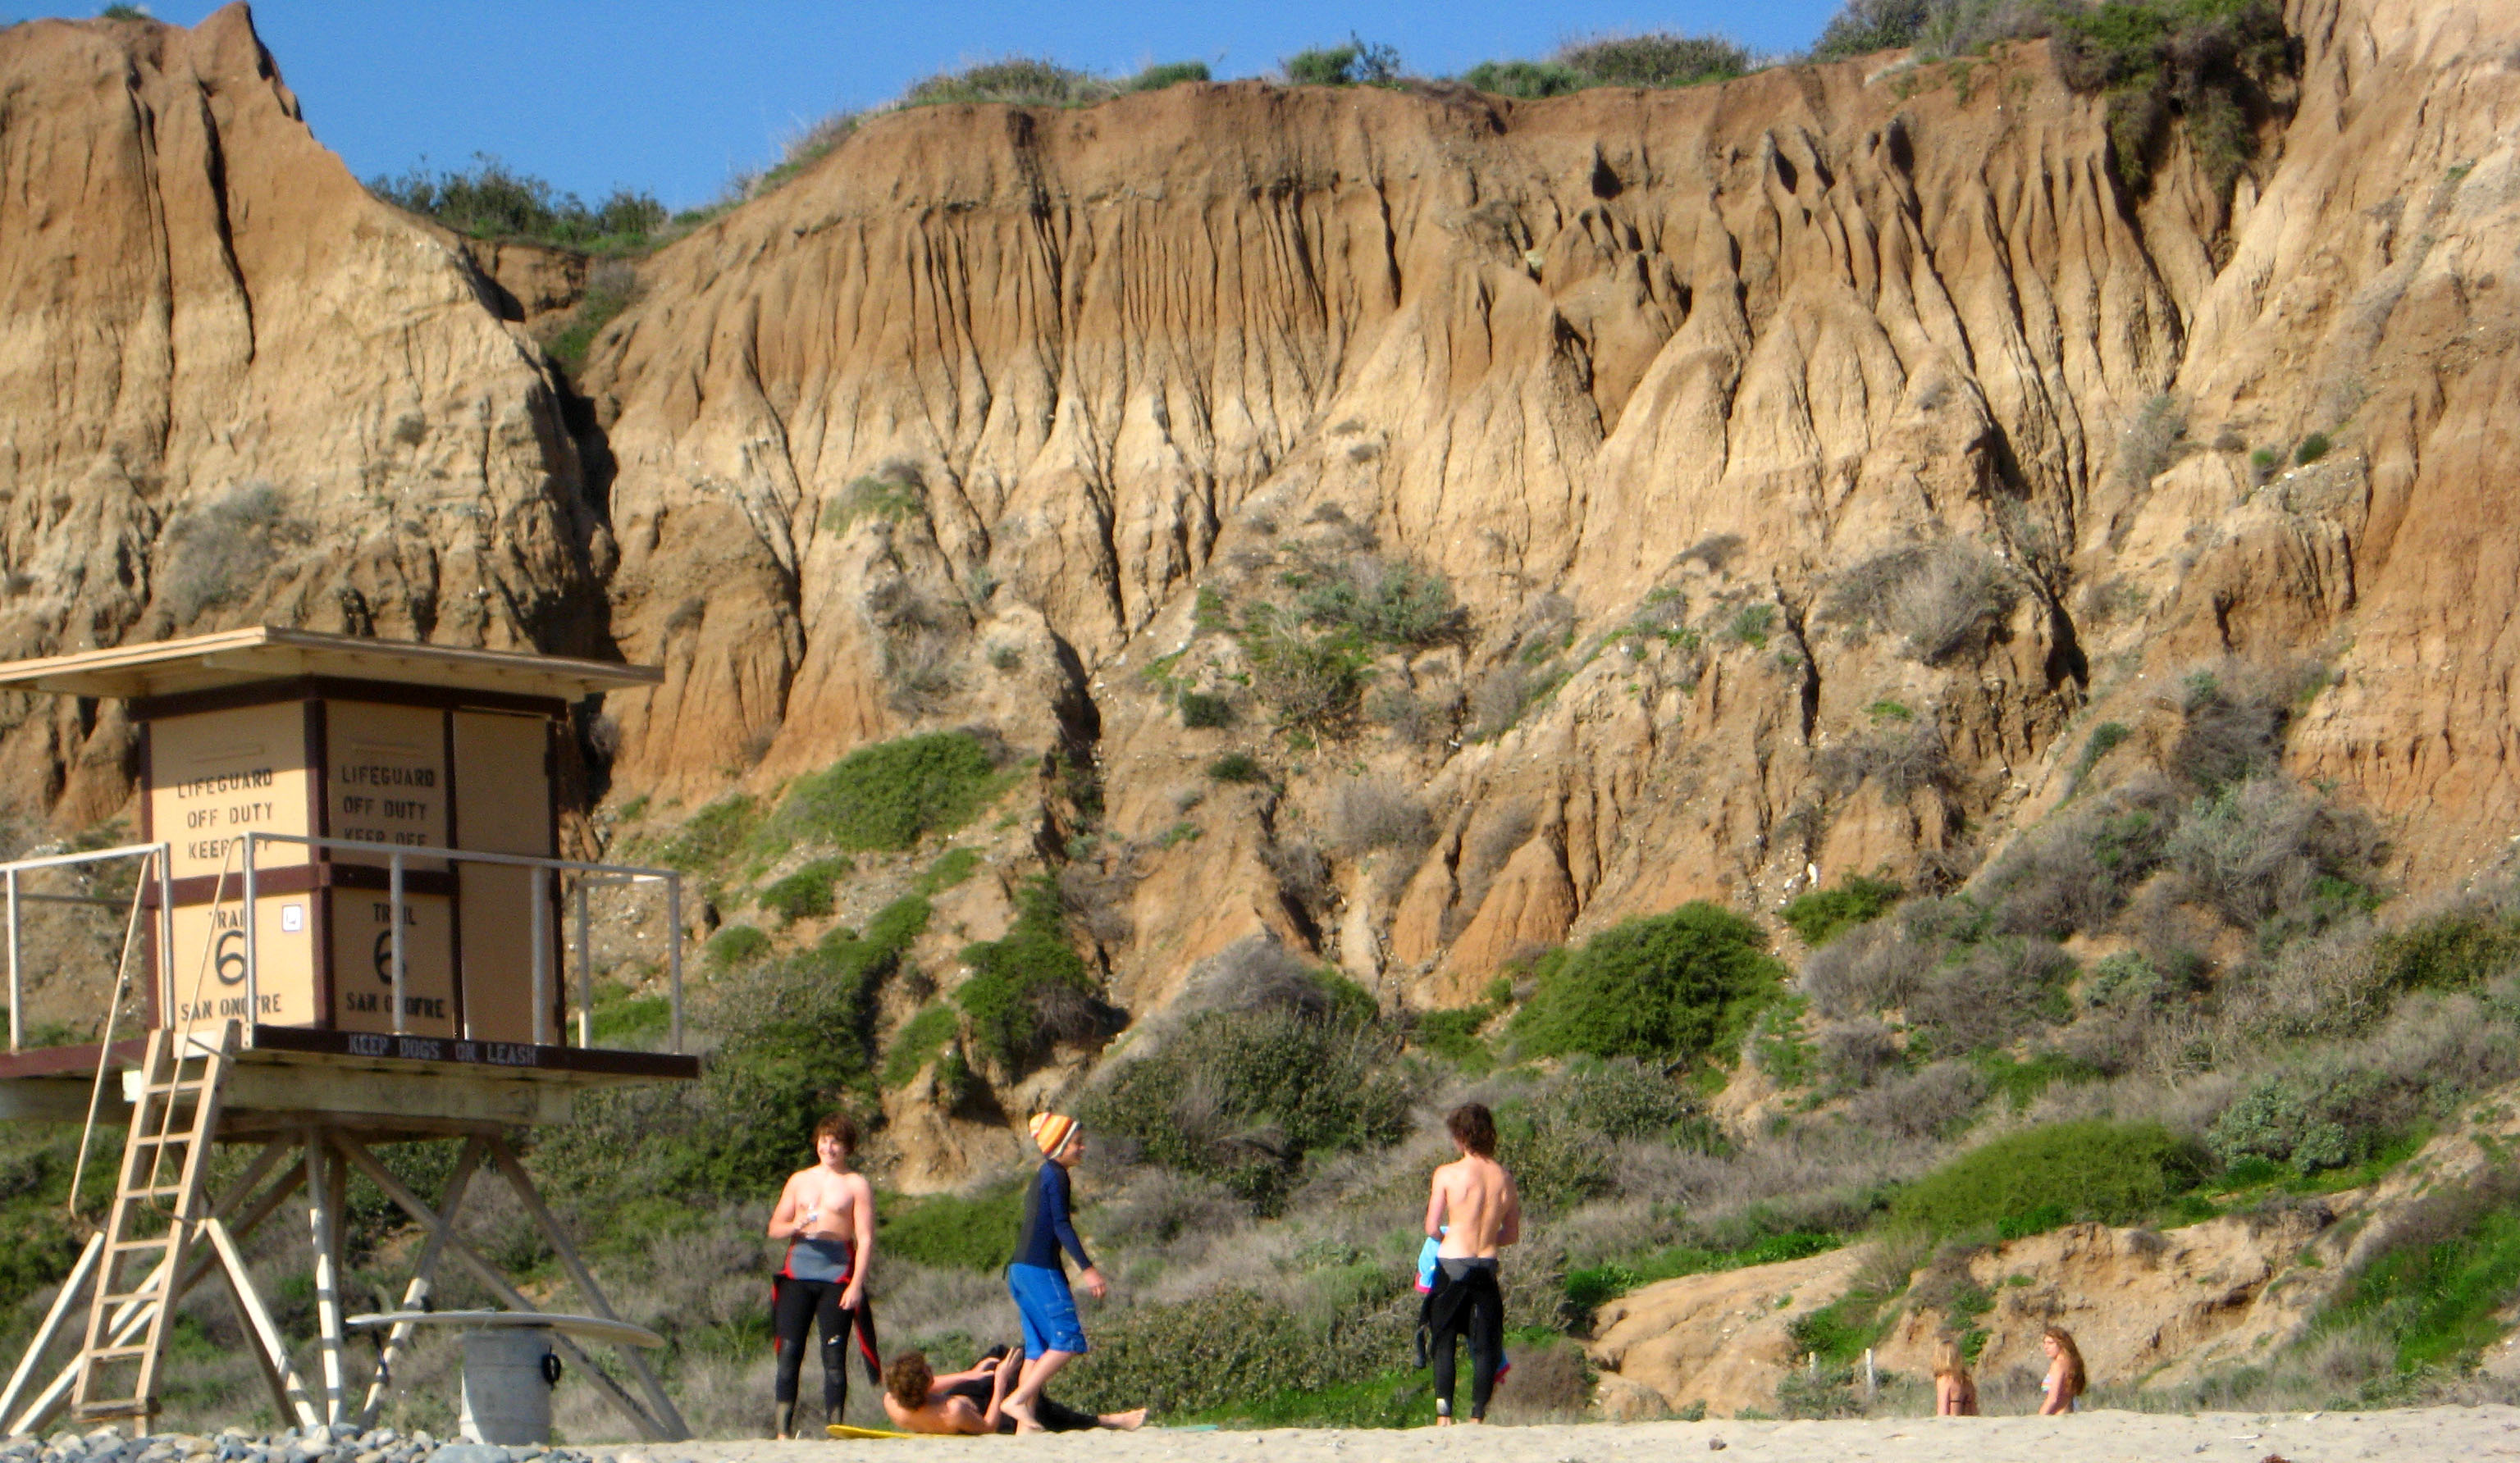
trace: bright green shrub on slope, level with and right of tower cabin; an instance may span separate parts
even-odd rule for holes
[[[910,849],[973,821],[998,786],[988,748],[970,733],[900,738],[796,778],[769,831],[842,849]]]

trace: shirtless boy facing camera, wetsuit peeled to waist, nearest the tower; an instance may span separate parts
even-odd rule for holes
[[[804,1370],[804,1340],[822,1327],[822,1410],[839,1423],[849,1405],[849,1327],[867,1297],[867,1264],[874,1259],[874,1186],[849,1168],[857,1153],[857,1123],[832,1113],[814,1126],[819,1163],[789,1176],[771,1211],[769,1236],[786,1239],[786,1257],[771,1282],[776,1307],[771,1330],[779,1335],[779,1375],[771,1398],[779,1403],[776,1435],[796,1435],[796,1372]]]

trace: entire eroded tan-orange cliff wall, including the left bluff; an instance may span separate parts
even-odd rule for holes
[[[242,8],[20,25],[5,650],[617,647],[668,682],[612,708],[615,786],[685,803],[922,725],[1091,753],[1129,1007],[1255,929],[1457,1000],[1681,899],[1935,874],[2223,655],[2328,662],[2296,771],[2439,886],[2512,806],[2520,15],[2288,23],[2228,206],[2177,131],[2117,181],[2041,45],[882,116],[643,264],[595,489],[501,292],[315,146]],[[252,481],[305,531],[239,519],[252,587],[171,594]],[[1399,564],[1462,627],[1353,735],[1265,735],[1222,624]],[[28,801],[116,806],[111,725],[13,715]],[[1285,791],[1205,791],[1232,748]]]

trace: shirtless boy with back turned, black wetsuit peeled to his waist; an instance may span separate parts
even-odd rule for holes
[[[1444,1118],[1459,1158],[1434,1171],[1426,1194],[1426,1236],[1436,1246],[1434,1294],[1426,1297],[1434,1362],[1434,1425],[1452,1425],[1454,1342],[1469,1335],[1469,1420],[1487,1420],[1504,1357],[1504,1289],[1497,1251],[1522,1239],[1522,1196],[1497,1163],[1497,1118],[1484,1103],[1462,1103]]]

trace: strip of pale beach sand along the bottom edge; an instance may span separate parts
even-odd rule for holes
[[[1111,1463],[1305,1458],[1320,1463],[1419,1463],[1474,1455],[1482,1463],[1593,1463],[1704,1458],[1724,1463],[2344,1463],[2354,1458],[2520,1458],[2520,1408],[2409,1408],[2394,1413],[2082,1413],[2076,1418],[1903,1418],[1865,1423],[1585,1423],[1555,1428],[1434,1428],[1389,1433],[1225,1430],[1068,1433],[1008,1438],[915,1438],[885,1443],[673,1443],[625,1448],[620,1463],[801,1463],[829,1450],[879,1448],[895,1463],[998,1450],[1028,1458]]]

